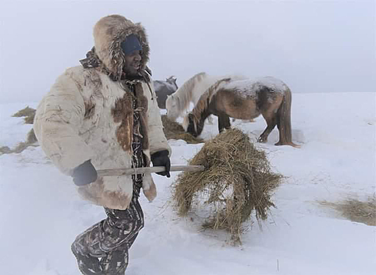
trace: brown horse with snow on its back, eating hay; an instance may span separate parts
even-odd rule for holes
[[[267,127],[258,138],[259,142],[267,142],[268,135],[277,125],[279,141],[274,145],[300,147],[292,141],[290,88],[274,77],[218,80],[184,117],[184,130],[197,137],[203,130],[206,117],[211,114],[218,117],[219,132],[230,128],[230,117],[248,120],[262,114]]]

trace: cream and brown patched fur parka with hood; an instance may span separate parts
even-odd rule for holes
[[[129,34],[143,47],[141,80],[135,84],[136,99],[124,82],[124,54],[120,43]],[[163,133],[153,82],[146,72],[149,44],[143,26],[120,15],[103,17],[94,26],[94,49],[100,64],[68,68],[38,105],[34,131],[53,163],[67,175],[86,160],[99,169],[132,166],[133,112],[139,111],[146,165],[150,155],[171,148]],[[138,110],[133,110],[137,100]],[[133,192],[131,176],[99,177],[77,187],[94,204],[124,210]],[[143,192],[149,201],[156,196],[150,174],[143,177]]]

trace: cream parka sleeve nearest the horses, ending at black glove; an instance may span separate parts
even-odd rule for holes
[[[149,143],[150,143],[150,155],[155,152],[168,150],[168,155],[171,156],[171,147],[167,142],[167,138],[163,132],[163,125],[161,120],[161,111],[158,107],[156,95],[154,91],[153,81],[150,83],[151,93],[153,94],[153,100],[150,100],[149,104]]]

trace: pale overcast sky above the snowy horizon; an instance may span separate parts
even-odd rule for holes
[[[375,1],[2,1],[0,103],[39,101],[121,14],[146,27],[154,79],[275,76],[293,93],[376,91]]]

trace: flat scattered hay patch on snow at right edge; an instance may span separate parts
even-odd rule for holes
[[[376,226],[376,196],[369,196],[367,201],[347,199],[341,202],[320,201],[321,205],[340,211],[342,216],[353,222]]]

